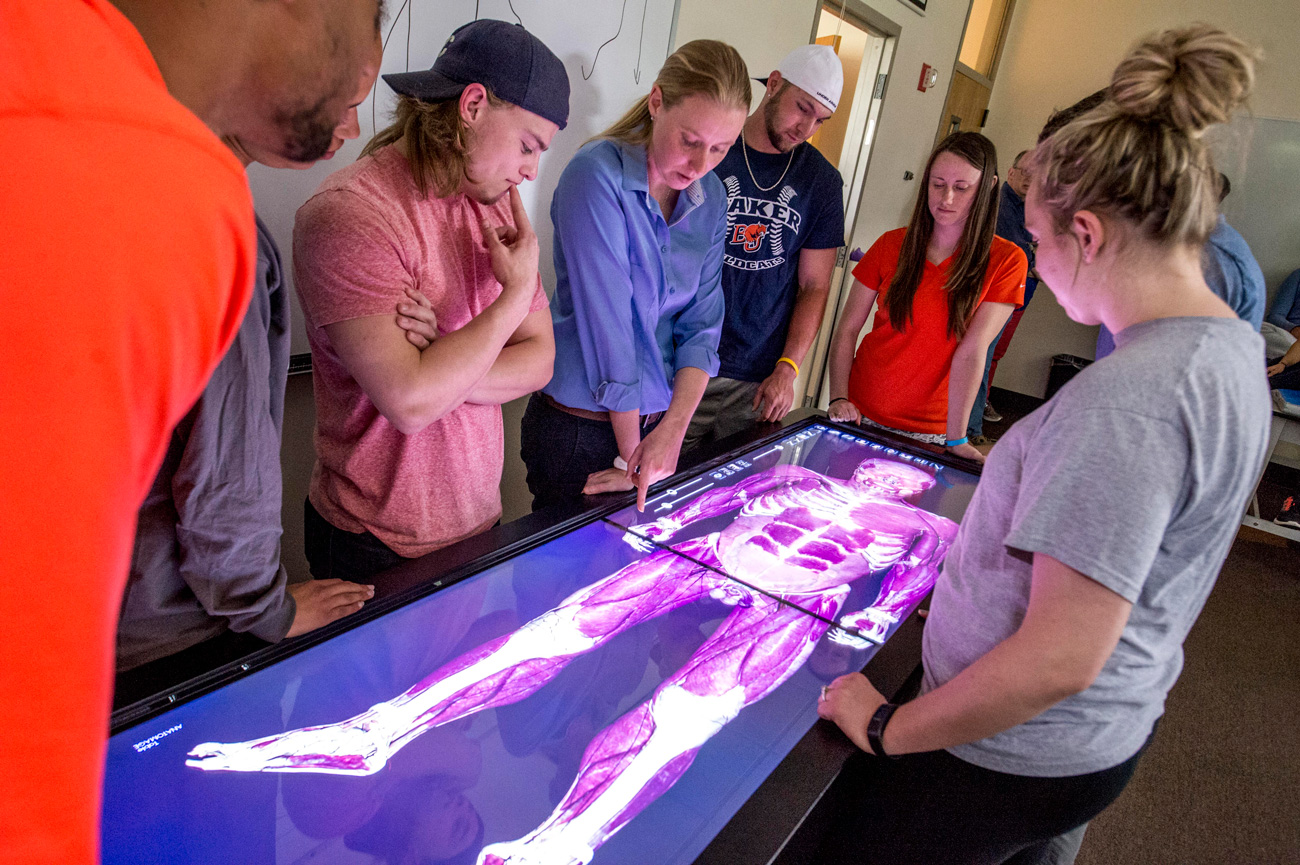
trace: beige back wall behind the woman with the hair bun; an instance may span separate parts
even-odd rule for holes
[[[997,144],[1004,170],[1011,156],[1034,144],[1052,111],[1105,87],[1138,39],[1195,21],[1222,26],[1262,47],[1254,114],[1300,121],[1296,0],[1018,0],[984,129]],[[1260,176],[1275,170],[1277,153],[1284,150],[1278,138],[1286,130],[1295,129],[1294,150],[1300,151],[1300,125],[1284,125],[1282,131],[1273,126],[1266,139],[1225,139],[1227,146],[1219,148],[1219,168],[1234,187],[1225,212],[1254,250],[1270,289],[1300,267],[1300,177],[1287,172]],[[1264,151],[1264,144],[1270,150]],[[1257,166],[1253,173],[1252,165]],[[1050,293],[1040,289],[994,384],[1041,395],[1050,355],[1091,358],[1096,328],[1070,321]]]

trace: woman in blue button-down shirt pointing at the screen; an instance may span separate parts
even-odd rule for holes
[[[734,48],[686,43],[560,176],[555,376],[523,425],[534,510],[633,485],[644,505],[646,488],[676,471],[718,373],[727,194],[712,169],[749,103]]]

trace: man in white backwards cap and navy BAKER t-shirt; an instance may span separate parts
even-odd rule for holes
[[[827,46],[802,46],[764,83],[763,100],[714,169],[727,187],[722,368],[685,447],[790,410],[844,243],[844,180],[807,143],[840,101],[840,59]]]

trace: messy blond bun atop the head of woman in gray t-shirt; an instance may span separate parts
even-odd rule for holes
[[[1115,68],[1121,114],[1165,120],[1188,135],[1227,122],[1254,85],[1257,52],[1204,23],[1148,36]]]

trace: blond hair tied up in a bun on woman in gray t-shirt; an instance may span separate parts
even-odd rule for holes
[[[1105,99],[1034,152],[1034,183],[1056,232],[1078,211],[1131,222],[1160,245],[1201,245],[1219,180],[1201,133],[1254,86],[1257,52],[1197,23],[1148,36],[1115,68]]]

